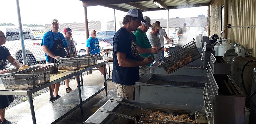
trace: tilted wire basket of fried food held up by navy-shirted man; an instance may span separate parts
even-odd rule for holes
[[[201,55],[196,48],[196,42],[194,42],[194,40],[195,39],[164,57],[160,66],[164,68],[167,74],[170,74],[180,69],[181,67],[186,66],[189,63],[201,58]]]

